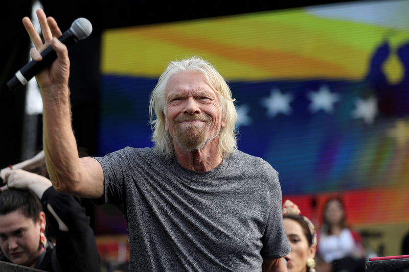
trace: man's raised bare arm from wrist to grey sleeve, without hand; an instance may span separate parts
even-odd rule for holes
[[[44,92],[44,90],[41,90]],[[51,96],[51,93],[58,93]],[[99,198],[104,191],[101,165],[93,158],[79,158],[71,126],[70,92],[67,86],[47,90],[43,97],[43,145],[47,170],[59,192]]]

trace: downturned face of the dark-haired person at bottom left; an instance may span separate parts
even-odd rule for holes
[[[15,264],[33,267],[41,255],[41,228],[45,228],[45,217],[41,215],[37,222],[19,210],[0,215],[0,246],[3,253]]]

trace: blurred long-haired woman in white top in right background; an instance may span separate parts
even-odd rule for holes
[[[318,253],[324,260],[323,271],[365,271],[365,249],[359,232],[347,225],[342,200],[329,199],[323,212]]]

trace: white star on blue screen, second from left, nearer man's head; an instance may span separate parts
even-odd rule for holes
[[[267,115],[274,117],[278,113],[290,114],[291,107],[290,102],[292,95],[289,93],[281,93],[278,88],[272,89],[270,96],[263,98],[261,104],[267,108]]]

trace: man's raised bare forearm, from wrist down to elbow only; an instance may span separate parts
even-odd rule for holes
[[[43,146],[47,170],[54,188],[75,192],[80,180],[77,143],[71,126],[68,86],[41,90],[43,99]]]

